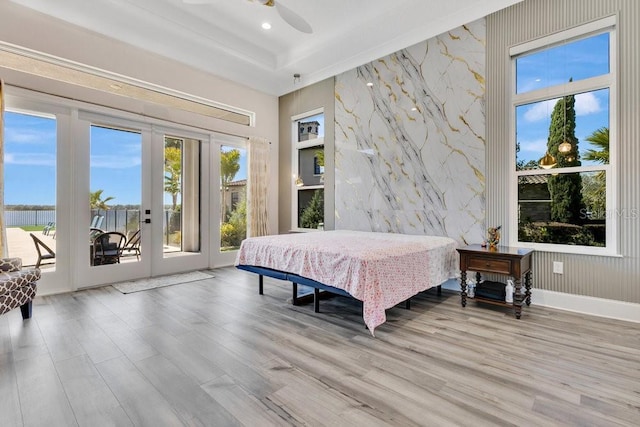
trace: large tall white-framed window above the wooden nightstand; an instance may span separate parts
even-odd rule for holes
[[[616,252],[613,25],[608,18],[511,50],[514,244]]]

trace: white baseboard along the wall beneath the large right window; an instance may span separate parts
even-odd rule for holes
[[[460,282],[448,280],[442,287],[460,291]],[[640,323],[640,304],[584,295],[565,294],[543,289],[531,290],[531,304],[574,313]]]

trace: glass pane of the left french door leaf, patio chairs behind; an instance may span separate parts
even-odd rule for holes
[[[144,256],[138,239],[142,206],[142,135],[97,125],[92,125],[90,132],[89,263],[94,266],[139,262]],[[124,239],[98,238],[106,232],[120,233]],[[121,255],[109,256],[116,245],[124,246]]]

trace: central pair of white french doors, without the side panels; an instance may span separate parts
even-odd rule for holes
[[[78,288],[208,266],[206,136],[80,113],[74,129]],[[103,262],[96,235],[124,242]]]

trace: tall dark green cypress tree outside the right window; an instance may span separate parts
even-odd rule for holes
[[[575,136],[576,111],[574,95],[560,98],[553,107],[547,151],[556,158],[556,168],[580,166],[578,139]],[[558,146],[570,144],[569,151],[560,152]],[[576,224],[582,219],[582,177],[579,173],[562,173],[549,176],[551,194],[551,220]]]

